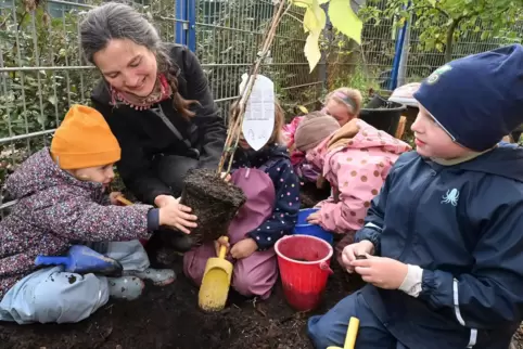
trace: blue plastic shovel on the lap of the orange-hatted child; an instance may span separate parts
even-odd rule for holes
[[[95,250],[74,245],[69,248],[67,256],[38,256],[35,259],[36,266],[64,266],[65,271],[78,274],[102,274],[107,276],[120,276],[124,268],[112,258],[105,257]]]

